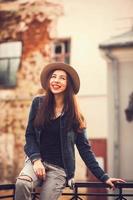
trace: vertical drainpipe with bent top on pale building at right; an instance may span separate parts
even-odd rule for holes
[[[120,112],[119,112],[119,72],[118,59],[112,55],[110,50],[105,52],[106,57],[112,63],[112,78],[113,78],[113,102],[114,102],[114,133],[111,148],[113,148],[113,175],[119,177],[120,175]],[[111,152],[109,152],[109,159]]]

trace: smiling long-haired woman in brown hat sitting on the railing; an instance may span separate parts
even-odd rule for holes
[[[41,84],[45,96],[34,98],[26,129],[24,147],[27,159],[16,182],[16,200],[30,200],[34,187],[41,183],[41,200],[57,200],[75,171],[74,144],[91,172],[114,188],[114,182],[100,168],[86,137],[85,120],[79,111],[76,94],[80,79],[74,68],[64,63],[44,67]]]

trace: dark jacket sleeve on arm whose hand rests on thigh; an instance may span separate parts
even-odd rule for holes
[[[39,159],[41,157],[39,146],[36,140],[35,127],[33,124],[38,105],[39,105],[39,97],[35,97],[31,104],[28,124],[25,133],[26,144],[24,146],[24,151],[31,161],[33,161],[34,159]]]

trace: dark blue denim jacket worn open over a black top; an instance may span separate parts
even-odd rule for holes
[[[40,134],[41,129],[37,129],[33,126],[33,121],[36,115],[39,102],[44,97],[35,97],[33,99],[28,125],[26,129],[26,144],[24,146],[25,153],[30,158],[34,160],[41,158],[40,156]],[[98,162],[95,159],[93,152],[91,151],[91,146],[86,137],[86,130],[83,130],[82,133],[77,133],[74,131],[64,131],[65,118],[61,117],[60,119],[60,137],[61,137],[61,150],[62,157],[64,162],[65,172],[67,178],[70,179],[74,177],[75,172],[75,151],[74,145],[76,144],[79,154],[86,166],[91,170],[91,172],[101,181],[106,181],[109,177],[101,169]]]

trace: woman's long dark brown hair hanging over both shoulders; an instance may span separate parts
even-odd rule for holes
[[[43,126],[44,124],[50,123],[51,119],[54,118],[54,107],[55,107],[55,99],[53,93],[49,88],[49,79],[51,77],[51,72],[48,76],[47,86],[46,86],[46,95],[43,101],[40,103],[38,108],[34,125],[37,127]],[[81,131],[86,127],[85,120],[83,115],[79,111],[79,106],[76,100],[76,95],[73,90],[72,79],[67,74],[67,88],[64,93],[64,108],[63,112],[65,115],[65,124],[66,130],[74,129],[76,131]]]

